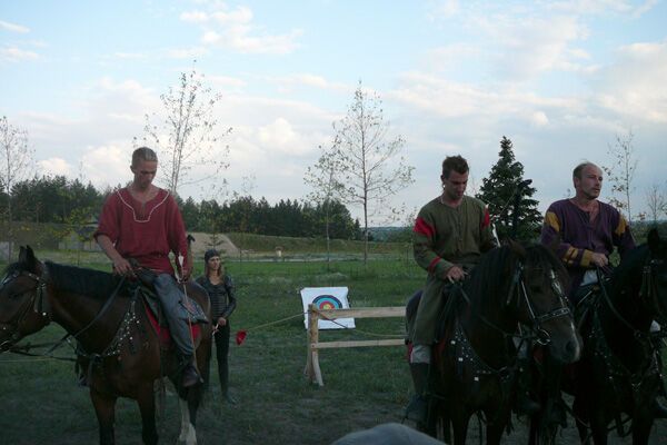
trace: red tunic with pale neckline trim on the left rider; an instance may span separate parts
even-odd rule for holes
[[[136,200],[127,188],[107,198],[93,237],[106,235],[123,258],[136,258],[143,267],[173,275],[169,253],[183,256],[188,265],[186,226],[180,210],[169,191],[159,189],[145,205]],[[177,265],[180,270],[179,265]]]

